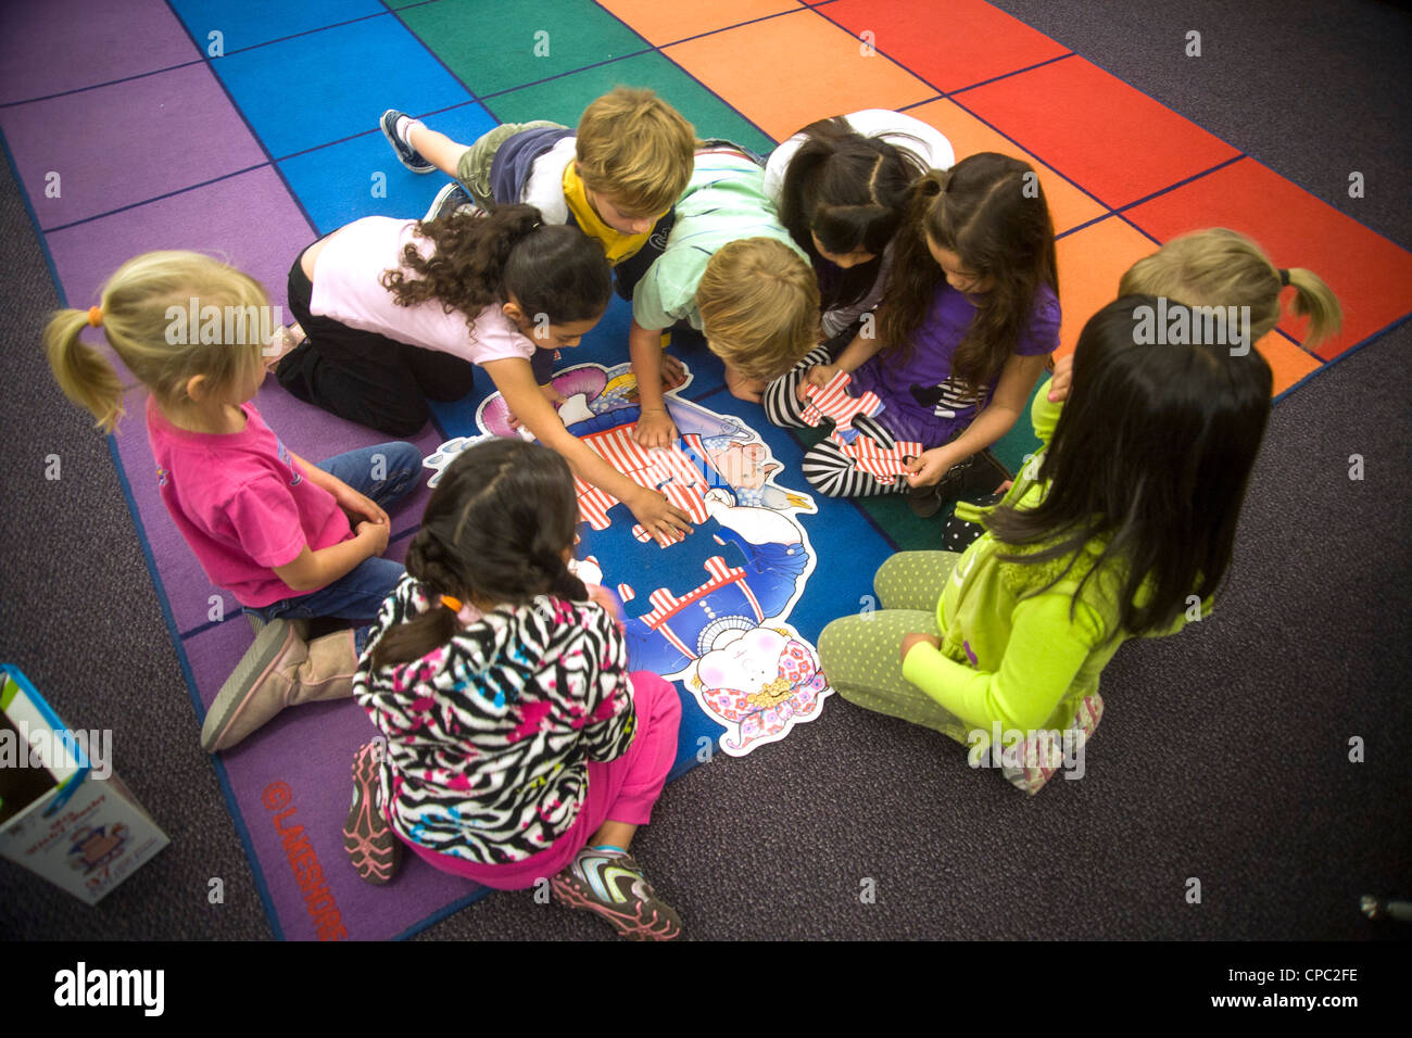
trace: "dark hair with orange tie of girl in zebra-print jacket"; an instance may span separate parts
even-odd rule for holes
[[[421,660],[459,630],[442,595],[522,606],[538,595],[586,602],[563,551],[573,544],[578,493],[568,462],[539,443],[493,439],[452,462],[407,548],[407,572],[432,607],[388,628],[374,669]]]

